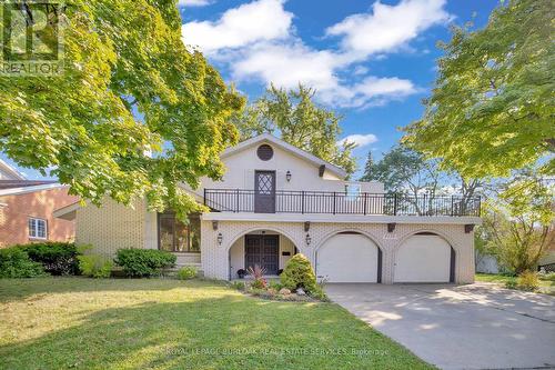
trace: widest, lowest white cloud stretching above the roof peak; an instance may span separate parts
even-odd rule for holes
[[[410,80],[395,77],[366,76],[349,83],[336,73],[349,64],[343,54],[314,50],[302,42],[259,43],[243,50],[231,71],[235,80],[256,79],[283,88],[295,88],[302,81],[317,90],[322,102],[335,107],[379,106],[417,92]]]

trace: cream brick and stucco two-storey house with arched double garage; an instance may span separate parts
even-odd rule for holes
[[[189,224],[142,202],[134,209],[72,204],[56,214],[75,219],[77,242],[98,253],[168,250],[179,264],[196,264],[215,279],[235,279],[254,264],[278,274],[295,253],[329,282],[474,279],[480,199],[384,193],[383,184],[345,180],[342,169],[270,134],[229,148],[221,159],[223,179],[190,190],[211,212],[191,216]]]

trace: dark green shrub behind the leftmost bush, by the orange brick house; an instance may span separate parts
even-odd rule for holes
[[[18,244],[12,248],[22,248],[29,258],[42,263],[44,270],[51,274],[77,274],[80,254],[74,243],[47,241],[40,243]]]

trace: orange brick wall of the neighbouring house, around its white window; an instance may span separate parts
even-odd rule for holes
[[[29,239],[30,217],[47,220],[48,240],[73,240],[74,222],[57,219],[52,212],[78,199],[65,188],[0,197],[0,248],[33,241]]]

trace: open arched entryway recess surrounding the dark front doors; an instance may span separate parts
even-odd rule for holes
[[[297,252],[293,241],[274,230],[253,230],[239,237],[229,250],[230,279],[250,266],[261,266],[266,276],[278,276],[289,259]]]

